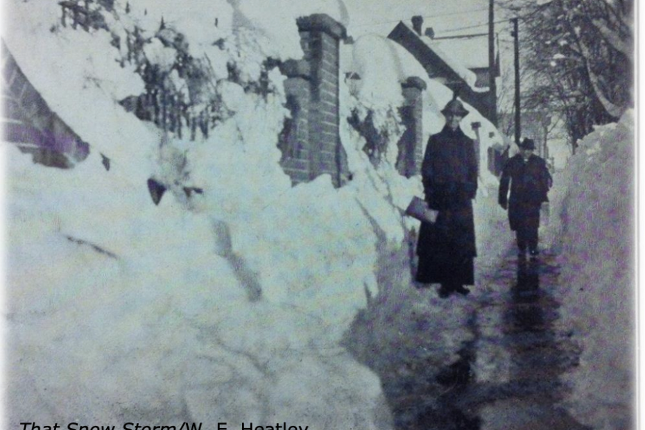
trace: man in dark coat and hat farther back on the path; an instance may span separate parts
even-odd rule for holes
[[[540,227],[540,206],[548,202],[547,192],[553,179],[547,163],[533,153],[535,142],[524,139],[519,153],[504,165],[499,180],[499,205],[508,209],[510,230],[516,232],[518,256],[524,258],[528,248],[531,258],[537,258],[537,229]],[[508,197],[510,182],[510,197]]]

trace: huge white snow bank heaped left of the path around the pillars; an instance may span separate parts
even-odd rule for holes
[[[334,189],[323,175],[291,187],[277,149],[289,115],[284,76],[271,70],[264,95],[245,85],[257,83],[268,56],[302,55],[296,16],[327,12],[346,22],[346,12],[336,1],[298,8],[293,25],[278,31],[286,3],[268,12],[279,19],[263,15],[275,25],[259,28],[250,25],[257,2],[215,3],[200,15],[204,2],[130,1],[125,14],[117,1],[114,14],[104,14],[121,40],[143,29],[144,53],[160,69],[178,55],[155,37],[161,17],[186,35],[191,55],[209,60],[226,115],[203,141],[169,139],[123,110],[118,101],[144,85],[132,67],[119,66],[126,47],[114,46],[110,33],[60,27],[56,1],[7,8],[3,40],[91,151],[62,171],[3,145],[11,424],[132,418],[391,428],[379,380],[339,341],[366,295],[381,291],[379,250],[402,246],[414,222],[401,210],[420,180],[394,169],[399,134],[375,167],[345,121],[355,180]],[[227,78],[230,62],[238,82]],[[445,104],[451,94],[437,88],[427,94]],[[427,134],[441,126],[436,103]],[[148,178],[169,189],[158,206]],[[203,193],[188,196],[183,187]]]

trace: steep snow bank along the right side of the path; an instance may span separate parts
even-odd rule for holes
[[[583,347],[567,381],[576,418],[626,429],[633,402],[633,112],[596,127],[556,175],[553,246],[561,250],[561,319]]]

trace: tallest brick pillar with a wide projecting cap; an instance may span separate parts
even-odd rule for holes
[[[345,27],[324,14],[297,21],[304,60],[311,68],[309,104],[309,179],[329,173],[335,187],[343,184],[346,163],[339,135],[338,44]]]

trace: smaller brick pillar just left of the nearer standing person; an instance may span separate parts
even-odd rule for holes
[[[410,178],[418,175],[423,161],[423,90],[426,83],[416,76],[411,76],[401,84],[404,105],[399,109],[406,130],[399,139],[399,156],[397,169],[399,173]]]

